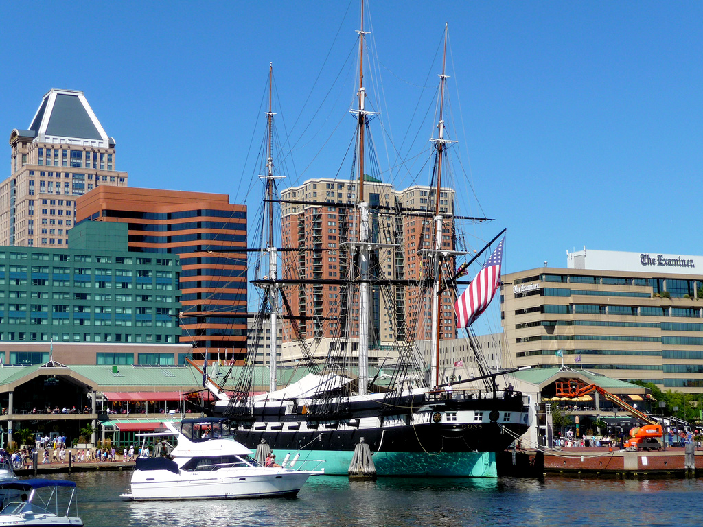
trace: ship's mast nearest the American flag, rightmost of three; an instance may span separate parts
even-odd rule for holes
[[[446,86],[446,41],[448,34],[448,25],[444,25],[444,54],[442,56],[441,75],[439,75],[439,123],[437,129],[439,132],[437,138],[432,138],[430,141],[434,143],[434,148],[437,149],[437,187],[434,200],[434,286],[432,287],[432,350],[430,352],[430,381],[437,386],[439,382],[439,341],[441,335],[441,314],[439,302],[444,289],[441,287],[441,261],[449,252],[443,252],[441,248],[442,237],[444,235],[444,217],[440,214],[440,190],[441,190],[441,171],[442,162],[444,161],[444,150],[449,141],[444,138],[444,87]]]

